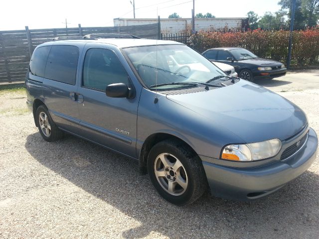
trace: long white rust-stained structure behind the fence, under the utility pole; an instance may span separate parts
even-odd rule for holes
[[[157,18],[114,18],[114,26],[157,23]],[[195,31],[228,31],[248,28],[248,17],[195,18]],[[160,18],[161,33],[190,33],[191,18]]]

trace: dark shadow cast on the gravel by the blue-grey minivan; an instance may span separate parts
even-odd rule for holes
[[[158,195],[148,175],[139,176],[137,161],[90,142],[68,135],[48,143],[33,133],[25,147],[45,167],[141,223],[125,231],[124,238],[143,238],[151,232],[169,238],[311,238],[305,233],[318,227],[319,175],[310,171],[255,202],[227,201],[206,193],[178,207]],[[191,235],[184,235],[186,228]]]

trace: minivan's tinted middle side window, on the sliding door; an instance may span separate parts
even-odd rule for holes
[[[52,46],[46,62],[44,77],[75,85],[79,49],[76,46]]]

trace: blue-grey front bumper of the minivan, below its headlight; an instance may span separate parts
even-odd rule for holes
[[[318,137],[310,128],[307,143],[293,157],[254,168],[234,168],[203,161],[211,194],[250,201],[275,192],[303,174],[316,159]]]

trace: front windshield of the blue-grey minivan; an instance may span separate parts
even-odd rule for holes
[[[228,80],[222,70],[185,45],[137,46],[123,51],[151,90],[194,87],[196,84],[189,83],[205,83],[217,76]]]

